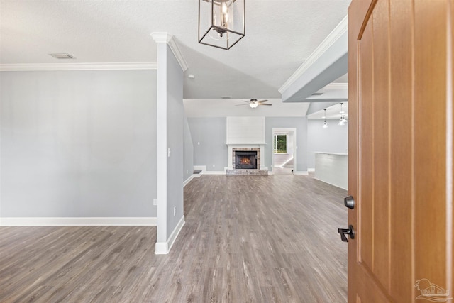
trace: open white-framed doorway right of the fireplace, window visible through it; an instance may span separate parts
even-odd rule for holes
[[[272,172],[291,175],[297,167],[297,128],[272,129]]]

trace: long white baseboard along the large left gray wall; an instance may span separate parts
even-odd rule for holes
[[[156,226],[149,217],[9,217],[0,218],[0,226]]]

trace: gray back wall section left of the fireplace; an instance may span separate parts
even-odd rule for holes
[[[206,170],[223,171],[228,165],[226,117],[187,120],[194,144],[194,165],[206,165]]]

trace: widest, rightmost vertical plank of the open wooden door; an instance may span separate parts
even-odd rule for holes
[[[414,40],[415,279],[426,278],[443,288],[447,286],[447,4],[440,0],[414,2],[414,31],[417,33]]]

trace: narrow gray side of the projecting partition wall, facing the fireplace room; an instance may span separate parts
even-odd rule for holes
[[[167,238],[183,216],[184,107],[183,71],[167,47]],[[176,214],[173,214],[176,207]]]

